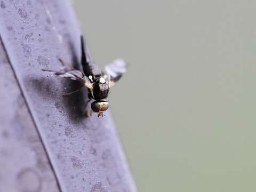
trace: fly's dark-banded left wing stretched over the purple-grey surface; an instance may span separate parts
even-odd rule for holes
[[[60,76],[60,77],[66,77],[69,79],[72,79],[74,81],[79,81],[83,83],[86,87],[89,89],[92,89],[92,84],[90,82],[90,79],[82,74],[81,71],[76,70],[76,69],[68,69],[68,68],[63,68],[59,71],[51,70],[51,69],[42,69],[43,71],[48,71],[54,75]]]

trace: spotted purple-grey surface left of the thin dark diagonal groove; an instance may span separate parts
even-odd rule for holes
[[[54,173],[1,42],[0,74],[0,191],[57,192]]]

